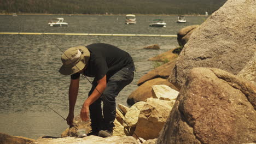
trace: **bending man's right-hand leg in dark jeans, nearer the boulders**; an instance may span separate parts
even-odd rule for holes
[[[129,85],[133,80],[133,69],[123,68],[115,73],[107,82],[107,87],[102,94],[103,101],[103,129],[107,131],[100,131],[99,136],[107,137],[111,136],[114,127],[115,120],[115,97],[119,92],[127,85]]]

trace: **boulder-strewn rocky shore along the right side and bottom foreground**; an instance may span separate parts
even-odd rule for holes
[[[0,143],[256,143],[255,14],[254,0],[230,0],[181,29],[181,53],[149,59],[169,62],[141,77],[131,107],[118,105],[112,137],[79,138],[73,127],[37,140],[0,133]],[[79,116],[74,123],[91,130]]]

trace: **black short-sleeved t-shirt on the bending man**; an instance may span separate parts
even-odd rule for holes
[[[86,46],[90,51],[88,66],[84,75],[100,80],[104,75],[107,79],[122,68],[134,67],[132,57],[126,51],[113,45],[97,43]],[[71,75],[71,79],[78,79],[79,73]]]

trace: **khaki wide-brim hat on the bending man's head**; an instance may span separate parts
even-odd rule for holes
[[[61,56],[63,65],[59,72],[62,75],[72,75],[87,67],[90,52],[85,46],[75,46],[67,49]]]

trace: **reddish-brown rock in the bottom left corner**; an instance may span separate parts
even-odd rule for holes
[[[34,139],[30,139],[22,136],[11,136],[8,134],[0,133],[0,143],[3,144],[28,144],[33,142]]]

